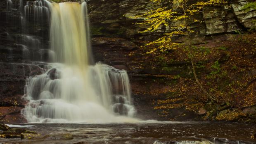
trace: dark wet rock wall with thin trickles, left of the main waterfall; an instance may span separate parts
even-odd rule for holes
[[[31,61],[47,61],[48,57],[47,11],[34,13],[32,5],[41,4],[0,1],[0,121],[5,123],[25,121],[20,110],[26,104],[21,98],[26,78],[43,72]]]

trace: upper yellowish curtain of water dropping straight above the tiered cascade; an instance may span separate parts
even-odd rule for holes
[[[88,66],[85,13],[79,3],[53,3],[50,39],[55,61]]]

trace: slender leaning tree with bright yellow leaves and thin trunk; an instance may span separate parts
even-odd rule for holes
[[[162,5],[163,0],[152,0],[156,2],[156,5]],[[145,17],[145,21],[142,23],[137,23],[139,25],[149,24],[150,26],[142,32],[154,32],[159,27],[165,26],[169,27],[170,31],[165,32],[163,37],[160,37],[156,41],[148,43],[146,46],[154,45],[157,48],[152,48],[147,53],[168,53],[171,50],[177,49],[177,47],[183,47],[186,51],[186,55],[190,59],[192,64],[192,72],[194,78],[199,85],[201,91],[209,97],[212,101],[217,101],[216,96],[210,95],[203,87],[199,79],[197,78],[197,73],[195,71],[195,53],[204,51],[200,47],[195,47],[192,43],[192,34],[194,31],[189,25],[191,21],[201,23],[199,18],[196,17],[197,14],[202,12],[202,9],[206,6],[221,6],[226,2],[224,0],[207,0],[207,1],[195,1],[190,2],[189,0],[171,0],[167,1],[171,7],[160,7],[158,9],[147,12],[137,17]],[[173,41],[175,37],[185,36],[187,39],[186,44],[182,45],[178,42]],[[154,47],[153,46],[153,47]]]

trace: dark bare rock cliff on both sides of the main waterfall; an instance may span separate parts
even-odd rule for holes
[[[232,38],[235,32],[254,29],[256,10],[242,9],[248,2],[250,1],[231,0],[223,7],[205,8],[204,11],[211,9],[211,12],[198,16],[204,20],[203,23],[190,24],[192,30],[197,32],[195,41],[200,43],[218,37],[225,41]],[[170,110],[172,115],[169,117],[162,117],[159,114],[160,110],[154,110],[155,101],[164,99],[166,95],[163,91],[156,91],[154,94],[149,92],[164,87],[159,84],[149,86],[148,83],[152,79],[178,74],[184,78],[191,77],[190,64],[187,62],[176,62],[169,66],[171,70],[168,71],[162,66],[155,66],[156,69],[152,69],[151,63],[147,61],[148,57],[142,55],[140,46],[145,41],[151,41],[161,36],[162,32],[169,31],[162,28],[154,33],[139,33],[145,27],[134,23],[142,19],[131,17],[143,14],[154,7],[148,0],[88,1],[95,62],[101,61],[128,72],[137,117],[194,120],[198,115],[186,112],[182,108]],[[27,102],[21,97],[24,95],[26,78],[45,73],[44,62],[48,62],[52,54],[48,49],[49,23],[49,9],[40,0],[0,1],[0,121],[3,123],[26,122],[20,111]],[[183,39],[180,38],[178,41]],[[145,89],[137,87],[141,85]],[[253,111],[252,108],[249,111]],[[180,116],[180,113],[186,116]]]

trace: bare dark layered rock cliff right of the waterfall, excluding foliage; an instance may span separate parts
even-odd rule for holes
[[[198,16],[204,22],[190,24],[198,33],[194,41],[204,43],[210,40],[216,44],[232,39],[233,35],[244,30],[255,29],[256,10],[243,9],[248,2],[251,1],[232,0],[223,7],[206,7],[204,13]],[[167,117],[164,111],[154,109],[157,100],[168,97],[168,94],[161,94],[168,89],[166,85],[175,83],[175,80],[169,79],[168,76],[192,76],[190,64],[187,62],[161,66],[157,65],[158,62],[152,62],[150,57],[142,55],[143,50],[140,46],[145,41],[156,39],[161,32],[168,29],[162,28],[154,33],[139,33],[145,27],[134,23],[142,19],[132,16],[143,14],[155,8],[155,5],[149,0],[90,0],[88,7],[95,59],[128,71],[138,115],[144,119],[195,119],[198,115],[187,112],[183,107],[169,110]],[[120,46],[116,42],[126,44]],[[163,79],[162,75],[165,75]],[[161,81],[166,77],[168,83],[154,84],[155,79]]]

